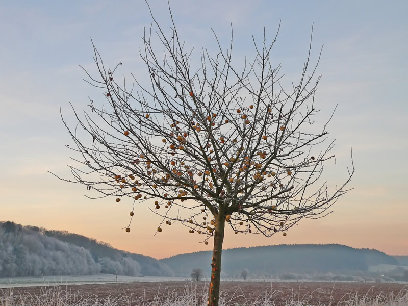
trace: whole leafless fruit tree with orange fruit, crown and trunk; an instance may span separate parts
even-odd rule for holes
[[[260,44],[253,40],[254,56],[241,68],[233,65],[232,35],[226,49],[215,35],[218,52],[202,49],[195,69],[193,50],[170,16],[172,32],[165,35],[152,15],[156,30],[145,31],[140,49],[146,75],[132,75],[129,88],[117,81],[122,63],[106,67],[94,46],[98,75],[87,72],[88,82],[105,98],[90,100],[83,117],[73,110],[86,138],[62,119],[78,162],[70,166],[73,179],[64,180],[96,190],[94,198],[127,199],[133,209],[145,203],[162,216],[158,232],[178,222],[205,244],[213,238],[208,301],[217,306],[225,225],[235,234],[286,236],[300,219],[330,212],[348,191],[354,167],[340,186],[319,180],[323,164],[334,159],[334,141],[327,123],[314,125],[320,77],[319,61],[310,67],[311,48],[289,89],[280,82],[281,65],[270,59],[277,33],[269,44],[265,33]],[[160,57],[154,37],[164,47]]]

